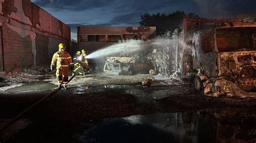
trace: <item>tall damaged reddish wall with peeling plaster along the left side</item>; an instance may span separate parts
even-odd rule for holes
[[[0,1],[0,71],[49,65],[63,42],[69,48],[70,27],[29,0]]]

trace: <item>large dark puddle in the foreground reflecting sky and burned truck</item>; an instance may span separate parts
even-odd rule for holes
[[[104,119],[75,137],[82,142],[250,142],[255,119],[232,111],[134,115]]]

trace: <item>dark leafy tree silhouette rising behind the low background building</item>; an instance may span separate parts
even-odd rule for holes
[[[182,27],[184,18],[200,18],[196,13],[186,14],[184,11],[175,11],[169,14],[156,13],[149,14],[144,13],[140,15],[140,26],[156,26],[156,35],[162,35],[166,31],[172,30],[174,27]]]

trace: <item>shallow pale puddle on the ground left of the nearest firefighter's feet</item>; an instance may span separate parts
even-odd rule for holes
[[[11,88],[6,91],[7,92],[35,91],[35,90],[51,89],[55,87],[57,86],[46,81],[35,81],[35,82],[25,83],[19,87]]]

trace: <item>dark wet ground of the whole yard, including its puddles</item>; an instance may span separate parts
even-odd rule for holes
[[[147,76],[77,76],[1,132],[0,142],[256,141],[254,98],[158,82],[145,88]],[[53,75],[43,77],[0,89],[0,128],[57,87]]]

